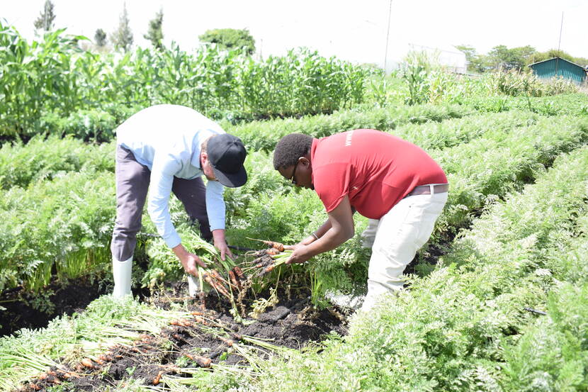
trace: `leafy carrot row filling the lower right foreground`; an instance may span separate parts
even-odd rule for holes
[[[348,336],[233,382],[259,391],[584,390],[587,186],[587,148],[558,157],[475,220],[431,274],[354,318]],[[228,382],[194,377],[203,391]]]

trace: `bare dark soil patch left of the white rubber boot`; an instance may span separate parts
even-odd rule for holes
[[[60,284],[53,281],[42,293],[33,294],[22,288],[0,293],[0,337],[11,335],[21,328],[47,327],[50,320],[60,315],[83,311],[106,288],[88,278]]]

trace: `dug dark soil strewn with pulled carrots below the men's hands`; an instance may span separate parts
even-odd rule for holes
[[[184,303],[187,290],[186,284],[176,283],[166,293],[149,298],[149,302],[169,308],[176,301]],[[260,296],[268,298],[269,293]],[[259,347],[259,342],[299,349],[307,342],[320,342],[331,332],[346,333],[346,317],[339,310],[312,308],[308,291],[278,291],[278,298],[275,306],[256,319],[245,318],[244,323],[234,321],[227,301],[216,293],[208,293],[206,308],[199,299],[191,298],[188,310],[193,315],[170,320],[159,335],[142,335],[131,347],[111,347],[98,358],[100,363],[91,362],[91,367],[86,362],[51,369],[27,383],[21,391],[48,391],[56,384],[60,384],[61,391],[97,391],[129,379],[162,386],[161,377],[166,374],[190,376],[182,370],[186,367],[214,369],[215,364],[245,365],[247,358],[239,354],[242,349],[267,357],[268,349]]]

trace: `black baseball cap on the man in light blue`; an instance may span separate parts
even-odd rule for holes
[[[241,139],[228,133],[215,135],[208,140],[206,151],[220,184],[237,188],[247,182],[247,172],[243,166],[247,151]]]

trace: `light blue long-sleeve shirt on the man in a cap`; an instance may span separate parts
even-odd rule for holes
[[[169,215],[174,177],[194,179],[203,175],[200,146],[210,136],[221,133],[225,131],[214,121],[179,105],[143,109],[116,129],[117,144],[130,150],[137,162],[151,170],[147,211],[169,247],[181,243]],[[225,228],[224,191],[218,181],[208,181],[206,185],[210,230]]]

